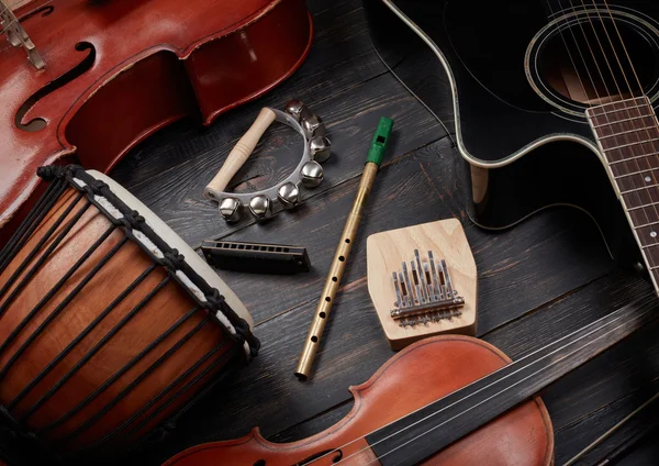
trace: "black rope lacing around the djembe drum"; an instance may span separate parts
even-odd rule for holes
[[[94,399],[107,391],[112,384],[115,384],[122,376],[125,376],[131,368],[134,368],[138,362],[145,360],[148,354],[154,353],[154,348],[158,345],[164,345],[166,339],[171,339],[175,332],[181,332],[186,329],[186,334],[181,336],[176,343],[174,343],[165,354],[160,355],[155,362],[147,363],[148,367],[137,375],[127,386],[122,387],[122,391],[118,395],[112,393],[110,401],[104,401],[104,406],[94,414],[85,419],[82,424],[78,425],[74,431],[66,431],[66,434],[62,434],[60,439],[54,440],[55,443],[80,443],[80,436],[85,432],[89,432],[90,428],[96,425],[103,417],[105,417],[114,407],[118,406],[126,396],[133,392],[139,384],[154,374],[154,371],[166,364],[166,362],[177,351],[192,339],[208,322],[219,324],[224,331],[226,339],[219,343],[215,347],[209,351],[200,359],[197,359],[187,368],[181,368],[180,373],[174,380],[169,382],[167,387],[160,389],[156,397],[152,398],[146,402],[145,406],[139,408],[137,412],[131,414],[131,417],[122,422],[121,425],[114,428],[112,432],[105,433],[105,435],[94,441],[93,444],[86,445],[81,452],[98,453],[96,448],[108,443],[112,440],[111,444],[116,445],[122,441],[130,441],[134,446],[135,437],[141,437],[145,430],[152,430],[149,425],[160,424],[165,422],[165,425],[160,428],[159,435],[164,436],[169,430],[172,429],[176,420],[187,411],[192,403],[208,393],[212,387],[220,382],[226,376],[227,367],[235,367],[239,365],[239,359],[235,356],[239,354],[244,355],[245,359],[256,356],[260,343],[252,334],[248,323],[242,319],[226,302],[224,296],[216,288],[211,287],[203,277],[201,277],[196,269],[186,260],[186,257],[176,248],[172,248],[159,236],[152,226],[139,215],[135,210],[132,210],[120,199],[111,188],[103,182],[94,178],[92,175],[85,171],[82,168],[77,166],[67,167],[42,167],[38,169],[38,175],[48,181],[48,186],[45,189],[44,195],[40,198],[35,207],[27,213],[26,219],[21,223],[14,234],[11,236],[7,245],[0,251],[0,264],[2,267],[11,265],[16,256],[21,254],[20,262],[15,260],[16,268],[12,270],[9,281],[2,284],[0,289],[0,319],[9,310],[13,309],[12,303],[15,302],[21,293],[29,289],[27,286],[32,281],[36,281],[37,273],[43,269],[44,264],[51,257],[54,257],[59,252],[60,244],[70,241],[72,237],[71,232],[76,224],[81,222],[85,213],[91,206],[94,206],[101,213],[104,214],[108,220],[112,222],[112,225],[108,228],[101,237],[94,241],[91,246],[88,246],[86,252],[76,259],[76,263],[59,278],[57,282],[43,296],[40,301],[31,309],[25,317],[22,318],[21,322],[12,329],[10,336],[0,344],[0,354],[9,351],[12,344],[16,344],[21,332],[26,331],[31,322],[36,320],[36,315],[40,312],[44,312],[49,301],[54,300],[57,292],[60,291],[67,280],[74,277],[77,270],[79,270],[86,263],[90,263],[94,253],[98,252],[101,244],[111,240],[113,232],[121,229],[124,236],[121,237],[113,248],[103,253],[104,257],[99,258],[99,263],[91,267],[91,270],[86,271],[86,276],[78,281],[78,285],[67,293],[62,302],[58,302],[55,309],[38,324],[34,333],[29,335],[24,342],[21,342],[21,346],[18,351],[12,354],[9,362],[0,368],[0,380],[10,374],[12,367],[16,366],[16,363],[21,358],[25,358],[30,353],[30,348],[34,345],[34,342],[47,332],[48,325],[62,315],[64,310],[71,306],[72,300],[76,296],[80,295],[83,287],[90,287],[89,282],[93,279],[97,274],[102,270],[103,266],[111,259],[112,256],[129,241],[135,243],[148,257],[153,260],[147,269],[141,273],[118,297],[113,298],[113,301],[108,304],[98,315],[94,315],[93,320],[87,324],[87,326],[75,337],[67,343],[64,350],[59,351],[52,360],[49,360],[37,374],[31,379],[24,387],[21,387],[21,391],[9,402],[9,407],[0,407],[0,428],[2,425],[9,425],[12,432],[20,435],[27,442],[34,443],[35,454],[38,454],[38,450],[46,452],[46,445],[43,441],[45,437],[53,437],[55,435],[53,430],[63,426],[64,423],[74,419],[81,410],[89,406]],[[78,192],[70,195],[67,192],[70,188],[76,189]],[[64,200],[64,202],[63,202]],[[59,204],[58,204],[59,202]],[[53,209],[56,209],[55,211]],[[51,218],[51,215],[57,215]],[[86,217],[85,217],[86,218]],[[44,226],[47,225],[47,229]],[[45,233],[44,233],[45,231]],[[40,235],[36,238],[36,234]],[[31,244],[33,243],[33,244]],[[25,249],[25,246],[29,249]],[[54,369],[63,363],[63,360],[71,354],[74,348],[80,345],[80,343],[90,333],[99,326],[99,324],[107,319],[108,315],[116,309],[121,302],[123,302],[127,296],[141,286],[144,280],[156,269],[164,267],[167,275],[155,284],[153,289],[145,290],[146,295],[139,297],[139,302],[134,304],[133,308],[121,318],[121,320],[113,324],[113,326],[101,336],[100,341],[93,343],[93,346],[87,350],[87,353],[82,357],[75,362],[75,364],[66,369],[66,373],[62,376],[58,375],[56,382],[47,388],[47,391],[38,393],[40,398],[26,409],[21,415],[13,419],[11,411],[18,409],[21,402],[25,401],[27,396],[48,376],[53,374]],[[36,429],[32,432],[32,429],[26,429],[27,422],[33,415],[35,415],[46,403],[64,388],[76,374],[78,374],[82,367],[91,364],[90,360],[97,355],[103,347],[108,345],[111,339],[124,328],[131,319],[133,319],[139,311],[148,304],[154,296],[159,292],[164,287],[176,281],[181,287],[186,288],[197,303],[187,314],[180,317],[176,322],[165,330],[156,340],[150,342],[146,347],[139,351],[138,354],[132,356],[131,360],[125,363],[119,370],[114,371],[107,380],[100,386],[86,395],[85,399],[78,402],[72,408],[68,409],[59,418],[49,421],[48,424]],[[97,276],[98,280],[98,276]],[[2,301],[3,300],[3,301]],[[194,328],[188,331],[186,322],[190,322],[193,315],[198,315],[202,312],[203,319],[199,323],[194,323]],[[100,336],[100,335],[99,335]],[[232,344],[232,343],[235,343]],[[223,351],[225,348],[225,351]],[[244,348],[245,351],[242,351]],[[220,353],[219,357],[217,354]],[[183,370],[185,369],[185,370]],[[209,379],[212,376],[212,379]],[[210,380],[210,384],[204,382],[199,389],[193,390],[193,387],[200,385],[202,380]],[[190,393],[191,391],[197,391]],[[185,398],[183,398],[185,397]],[[181,399],[181,407],[176,404],[177,400]],[[177,407],[175,411],[171,411],[172,407]],[[15,429],[13,428],[15,426]],[[0,429],[1,430],[1,429]],[[48,432],[44,436],[44,433]],[[1,435],[0,435],[1,436]],[[147,437],[142,439],[142,441]],[[1,439],[0,439],[1,442]],[[110,445],[108,447],[111,447]],[[68,455],[67,455],[68,457]],[[76,455],[77,457],[77,455]]]

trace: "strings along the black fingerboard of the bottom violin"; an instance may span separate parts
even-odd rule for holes
[[[646,311],[646,312],[649,312],[649,311]],[[605,317],[605,318],[602,318],[602,319],[600,319],[600,321],[601,321],[601,320],[603,320],[603,319],[606,319],[606,317]],[[616,320],[618,320],[618,319],[622,319],[622,317],[618,317],[618,318],[616,318],[615,320],[613,320],[612,322],[608,322],[608,323],[606,323],[605,325],[610,325],[610,324],[612,324],[613,322],[615,322],[615,321],[616,321]],[[597,322],[600,322],[600,321],[596,321],[595,323],[597,323]],[[448,422],[450,422],[450,421],[453,421],[453,420],[455,420],[455,419],[459,418],[460,415],[462,415],[462,414],[467,413],[468,411],[471,411],[471,410],[473,410],[473,409],[478,408],[479,406],[481,406],[481,404],[483,404],[483,403],[485,403],[485,402],[490,401],[491,399],[493,399],[493,398],[495,398],[495,397],[498,397],[498,396],[501,396],[501,395],[505,393],[506,391],[511,390],[511,389],[512,389],[514,386],[516,386],[516,385],[518,385],[518,384],[522,384],[523,381],[525,381],[525,380],[527,380],[527,379],[529,379],[529,378],[532,378],[532,377],[536,376],[537,374],[540,374],[540,373],[541,373],[543,370],[545,370],[546,368],[548,368],[548,367],[551,367],[551,366],[554,366],[554,365],[556,365],[556,364],[558,364],[558,363],[560,363],[560,362],[562,362],[562,360],[565,360],[565,359],[567,359],[568,357],[572,356],[573,354],[576,354],[576,353],[580,352],[581,350],[583,350],[583,348],[588,347],[589,345],[593,344],[593,343],[594,343],[594,342],[596,342],[597,340],[601,340],[601,339],[604,339],[604,337],[608,336],[611,333],[613,333],[613,332],[617,331],[618,329],[621,329],[621,328],[623,328],[623,326],[627,325],[628,323],[629,323],[628,321],[625,321],[625,322],[621,323],[619,325],[617,325],[616,328],[614,328],[614,329],[612,329],[612,330],[608,330],[608,331],[606,331],[606,332],[605,332],[603,335],[600,335],[600,336],[595,337],[594,340],[591,340],[591,341],[587,342],[585,344],[583,344],[582,346],[580,346],[580,347],[578,347],[577,350],[572,351],[571,353],[568,353],[568,354],[563,355],[562,357],[560,357],[560,358],[558,358],[558,359],[556,359],[556,360],[552,360],[552,362],[551,362],[551,363],[549,363],[549,364],[548,364],[546,367],[541,367],[541,368],[539,368],[539,369],[538,369],[538,370],[536,370],[535,373],[533,373],[533,374],[530,374],[530,375],[528,375],[528,376],[524,377],[522,380],[518,380],[518,381],[514,382],[513,385],[511,385],[511,386],[509,386],[509,387],[505,387],[505,388],[501,389],[499,392],[496,392],[496,393],[492,395],[491,397],[487,398],[485,400],[482,400],[482,401],[479,401],[479,402],[477,402],[476,404],[473,404],[473,406],[469,407],[468,409],[466,409],[466,410],[463,410],[463,411],[461,411],[461,412],[457,413],[457,414],[456,414],[456,415],[454,415],[453,418],[450,418],[450,419],[447,419],[447,420],[443,421],[442,423],[439,423],[439,424],[437,424],[437,425],[434,425],[433,428],[431,428],[431,429],[428,429],[428,430],[426,430],[426,431],[422,432],[421,434],[418,434],[418,435],[414,436],[413,439],[410,439],[410,440],[409,440],[409,441],[406,441],[405,443],[403,443],[403,444],[401,444],[401,445],[399,445],[399,446],[396,446],[396,447],[394,447],[394,448],[390,450],[389,452],[387,452],[387,453],[384,453],[384,454],[382,454],[382,455],[379,455],[379,456],[377,456],[376,458],[373,458],[373,459],[371,459],[370,462],[366,463],[366,465],[370,465],[370,464],[372,464],[373,462],[376,462],[376,461],[378,461],[378,459],[381,459],[381,458],[383,458],[384,456],[387,456],[387,455],[389,455],[389,454],[391,454],[391,453],[395,452],[396,450],[399,450],[399,448],[402,448],[403,446],[405,446],[405,445],[409,445],[410,443],[417,441],[418,439],[421,439],[421,437],[423,437],[424,435],[426,435],[426,434],[428,434],[428,433],[433,432],[434,430],[436,430],[436,429],[439,429],[440,426],[445,425],[446,423],[448,423]],[[603,326],[605,326],[605,325],[603,325]],[[587,328],[588,328],[588,326],[590,326],[590,325],[587,325]],[[399,435],[401,432],[403,432],[403,431],[405,431],[405,430],[407,430],[407,429],[410,429],[410,428],[412,428],[412,426],[414,426],[414,425],[416,425],[416,424],[418,424],[418,423],[421,423],[421,422],[423,422],[423,421],[426,421],[426,420],[428,420],[428,419],[429,419],[429,418],[432,418],[432,417],[435,417],[435,415],[437,415],[437,414],[438,414],[438,413],[440,413],[442,411],[444,411],[444,410],[446,410],[446,409],[450,408],[451,406],[455,406],[456,403],[458,403],[458,402],[460,402],[460,401],[462,401],[462,400],[465,400],[465,399],[467,399],[467,398],[469,398],[469,397],[471,397],[471,396],[473,396],[473,395],[476,395],[476,393],[478,393],[478,392],[480,392],[480,391],[484,390],[485,388],[489,388],[489,387],[491,387],[491,386],[494,386],[494,385],[496,385],[496,384],[499,384],[499,382],[503,381],[505,378],[507,378],[507,377],[511,377],[512,375],[514,375],[514,374],[516,374],[516,373],[518,373],[518,371],[521,371],[521,370],[524,370],[524,369],[526,369],[526,368],[528,368],[528,367],[533,366],[534,364],[536,364],[536,363],[539,363],[540,360],[543,360],[543,359],[546,359],[546,358],[548,358],[548,357],[550,357],[550,356],[555,355],[555,353],[559,353],[560,351],[565,350],[566,347],[568,347],[568,346],[570,346],[570,345],[574,345],[574,344],[577,344],[577,343],[580,343],[582,340],[587,339],[587,337],[588,337],[588,336],[590,336],[592,333],[595,333],[595,332],[597,332],[599,330],[601,330],[601,328],[597,328],[597,329],[594,329],[594,330],[592,330],[590,333],[588,333],[588,334],[585,334],[585,335],[583,335],[583,336],[579,337],[578,340],[576,340],[576,341],[573,341],[573,342],[571,342],[571,343],[568,343],[568,344],[566,344],[565,346],[561,346],[560,348],[557,348],[557,350],[552,351],[551,353],[549,353],[549,354],[547,354],[547,355],[545,355],[545,356],[541,356],[539,359],[537,359],[537,360],[534,360],[534,362],[532,362],[532,363],[527,364],[527,365],[526,365],[526,366],[524,366],[524,367],[521,367],[518,370],[515,370],[514,373],[512,373],[512,374],[510,374],[510,375],[507,375],[507,376],[505,376],[505,377],[503,377],[503,378],[501,378],[501,379],[499,379],[499,380],[496,380],[496,381],[494,381],[494,382],[490,384],[490,386],[488,386],[488,387],[484,387],[484,388],[482,388],[482,389],[480,389],[480,390],[476,391],[474,393],[470,393],[469,396],[467,396],[467,397],[465,397],[465,398],[462,398],[462,399],[460,399],[460,400],[457,400],[456,402],[454,402],[454,403],[451,403],[451,404],[449,404],[449,406],[447,406],[447,407],[444,407],[444,408],[442,408],[442,409],[439,409],[439,410],[437,410],[437,411],[435,411],[435,412],[433,412],[433,413],[428,414],[427,417],[425,417],[425,418],[423,418],[423,419],[421,419],[421,420],[418,420],[418,421],[416,421],[416,422],[414,422],[414,423],[412,423],[412,424],[410,424],[410,425],[407,425],[407,426],[405,426],[405,428],[401,429],[400,431],[398,431],[398,432],[394,432],[394,433],[392,433],[392,434],[388,435],[388,436],[387,436],[387,437],[384,437],[384,439],[381,439],[380,441],[378,441],[378,442],[373,443],[372,445],[368,445],[368,446],[366,446],[366,447],[361,448],[360,451],[353,453],[351,455],[347,456],[345,459],[342,459],[342,461],[339,461],[339,462],[337,462],[337,463],[335,463],[335,464],[340,464],[340,463],[343,463],[343,462],[344,462],[344,461],[346,461],[346,459],[349,459],[349,458],[351,458],[351,457],[355,457],[355,456],[356,456],[356,455],[358,455],[359,453],[362,453],[362,452],[365,452],[365,451],[367,451],[367,450],[371,450],[371,448],[372,448],[375,445],[377,445],[377,444],[379,444],[379,443],[381,443],[381,442],[384,442],[386,440],[389,440],[389,439],[393,437],[394,435]],[[404,418],[402,418],[402,419],[404,419]],[[364,437],[366,437],[366,436],[368,436],[368,435],[369,435],[369,434],[365,435]],[[360,439],[364,439],[364,437],[360,437]]]

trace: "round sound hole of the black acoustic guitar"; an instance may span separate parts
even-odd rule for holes
[[[622,19],[614,23],[605,12],[567,21],[557,24],[537,57],[539,78],[555,97],[602,104],[648,92],[657,84],[659,37]]]

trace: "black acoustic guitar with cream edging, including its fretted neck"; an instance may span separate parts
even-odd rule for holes
[[[365,7],[384,63],[437,116],[453,109],[477,224],[577,207],[658,289],[657,1]]]

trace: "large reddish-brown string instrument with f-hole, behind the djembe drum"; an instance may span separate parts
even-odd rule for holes
[[[3,238],[37,198],[37,167],[108,171],[174,121],[208,125],[290,76],[313,35],[304,0],[22,3],[0,1]]]

